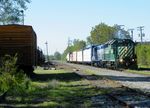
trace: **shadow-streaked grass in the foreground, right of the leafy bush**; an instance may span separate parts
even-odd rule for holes
[[[90,107],[89,97],[107,93],[104,88],[97,89],[88,80],[66,70],[37,69],[35,74],[23,94],[10,92],[0,107]]]

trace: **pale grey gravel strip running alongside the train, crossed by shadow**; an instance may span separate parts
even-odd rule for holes
[[[91,67],[86,65],[78,65],[78,64],[69,64],[66,65],[73,66],[79,70],[91,70],[95,75],[104,76],[110,79],[113,79],[124,86],[140,89],[143,92],[150,93],[150,76],[126,73],[122,71],[101,69],[97,67]]]

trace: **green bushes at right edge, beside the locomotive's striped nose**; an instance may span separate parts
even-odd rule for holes
[[[150,45],[138,44],[136,46],[137,61],[139,66],[150,66]]]

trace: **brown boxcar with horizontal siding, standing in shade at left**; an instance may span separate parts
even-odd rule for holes
[[[27,74],[37,63],[37,37],[32,26],[0,26],[0,59],[4,55],[18,55],[17,64]]]

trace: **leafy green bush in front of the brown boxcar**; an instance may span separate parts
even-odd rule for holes
[[[1,60],[0,67],[0,92],[23,93],[23,90],[28,88],[30,80],[26,77],[23,71],[19,71],[17,66],[17,55],[11,57],[6,55]]]

